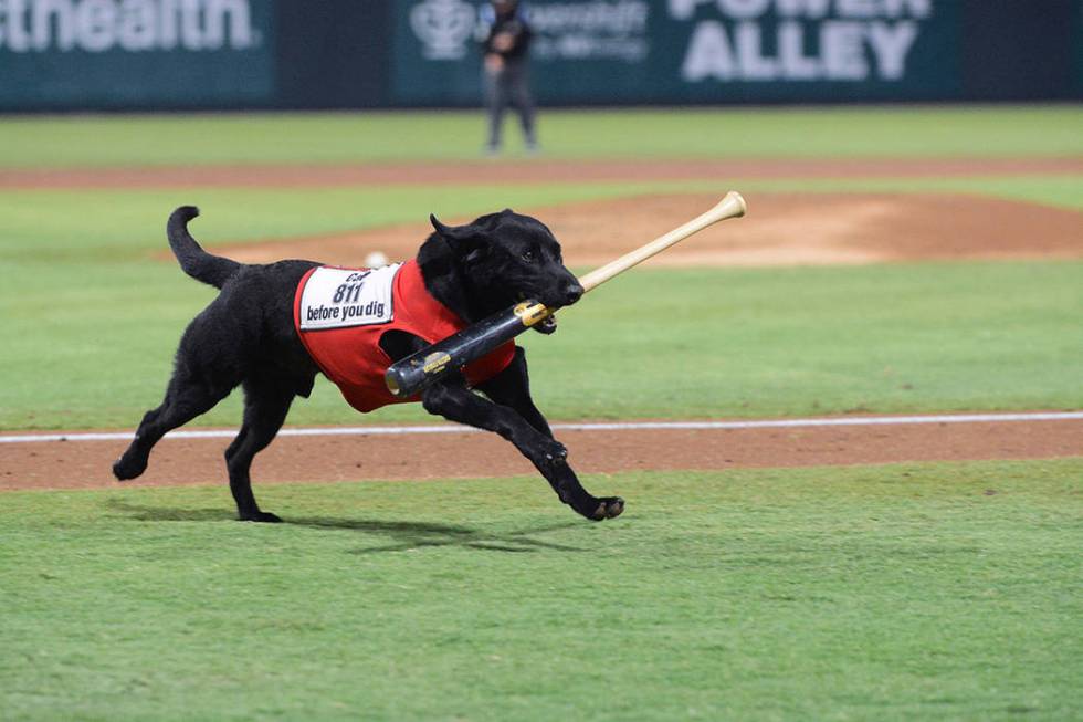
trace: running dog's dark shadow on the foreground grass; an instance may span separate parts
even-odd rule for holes
[[[111,499],[108,506],[141,522],[222,522],[233,521],[232,512],[217,509],[170,509],[166,506],[143,506],[119,499]],[[301,516],[284,520],[287,526],[305,526],[317,530],[347,530],[390,537],[390,544],[353,550],[351,554],[377,554],[381,552],[406,552],[427,546],[461,546],[486,552],[508,552],[523,554],[538,550],[558,552],[582,552],[585,550],[532,538],[535,534],[555,532],[581,526],[588,522],[569,521],[547,526],[535,526],[521,531],[494,533],[453,524],[432,522],[399,522],[369,519],[338,519],[332,516]]]

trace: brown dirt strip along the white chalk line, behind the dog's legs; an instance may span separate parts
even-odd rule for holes
[[[786,429],[561,430],[580,473],[813,467],[902,461],[1042,459],[1083,454],[1083,419]],[[169,439],[124,485],[223,483],[229,439]],[[124,441],[0,444],[0,491],[104,489]],[[278,437],[256,457],[257,482],[427,480],[537,472],[491,433]],[[539,478],[539,483],[544,481]]]

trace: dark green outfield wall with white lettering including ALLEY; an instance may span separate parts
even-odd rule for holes
[[[1080,100],[1083,0],[534,0],[550,105]],[[0,109],[469,106],[477,0],[0,0]]]

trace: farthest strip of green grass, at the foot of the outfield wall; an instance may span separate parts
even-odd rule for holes
[[[558,158],[1056,157],[1083,154],[1080,121],[1071,105],[561,111],[544,114],[542,140]],[[73,116],[3,130],[7,167],[451,160],[482,147],[469,112]]]

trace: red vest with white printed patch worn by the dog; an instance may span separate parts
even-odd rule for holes
[[[380,336],[392,328],[435,343],[466,323],[425,290],[417,261],[382,269],[317,266],[294,296],[294,326],[308,354],[355,409],[368,412],[388,404],[418,401],[387,390],[383,374],[391,359]],[[507,342],[464,369],[471,385],[507,368],[515,343]]]

